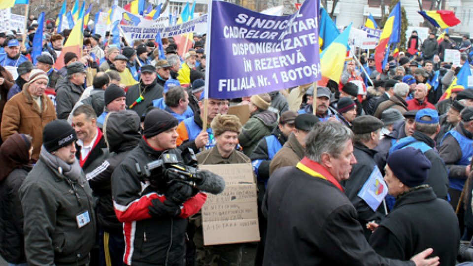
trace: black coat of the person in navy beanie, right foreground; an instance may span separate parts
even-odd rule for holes
[[[399,260],[433,248],[430,258],[439,256],[440,265],[455,265],[460,246],[458,219],[452,206],[437,199],[432,188],[409,191],[374,230],[370,245],[379,255]]]

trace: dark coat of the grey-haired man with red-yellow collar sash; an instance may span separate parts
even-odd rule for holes
[[[296,167],[274,172],[262,209],[268,218],[264,266],[414,265],[376,254],[345,194],[328,180]]]

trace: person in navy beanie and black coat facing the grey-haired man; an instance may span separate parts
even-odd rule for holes
[[[424,185],[431,166],[422,151],[414,147],[389,156],[384,180],[389,194],[397,200],[370,238],[379,255],[408,260],[432,247],[432,255],[440,258],[440,265],[455,265],[460,245],[458,219],[450,204],[437,199],[432,188]]]

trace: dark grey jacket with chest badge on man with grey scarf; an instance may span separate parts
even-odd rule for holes
[[[30,266],[89,263],[97,232],[94,198],[83,174],[79,178],[72,180],[60,174],[39,157],[23,182],[20,199]],[[77,215],[85,211],[90,222],[79,228]]]

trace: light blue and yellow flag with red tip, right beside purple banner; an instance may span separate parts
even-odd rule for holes
[[[329,79],[340,80],[350,29],[351,24],[320,55],[322,79],[317,82],[318,85],[326,86]]]

